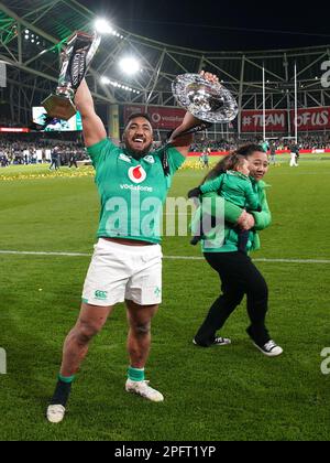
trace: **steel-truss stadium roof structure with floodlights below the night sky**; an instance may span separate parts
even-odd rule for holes
[[[20,120],[26,121],[31,107],[54,91],[59,54],[67,37],[76,30],[92,32],[95,19],[95,13],[76,0],[0,1],[0,62],[7,63],[7,91],[12,111]],[[117,31],[117,35],[102,36],[88,71],[87,79],[97,104],[176,106],[172,95],[174,78],[178,74],[207,69],[219,75],[240,108],[260,109],[264,67],[267,108],[290,108],[297,64],[298,106],[330,106],[330,88],[321,85],[324,73],[321,65],[330,61],[330,45],[208,52],[167,45],[119,28]],[[120,71],[118,63],[127,55],[140,60],[142,71],[138,75],[127,76]],[[117,86],[102,84],[102,76]]]

